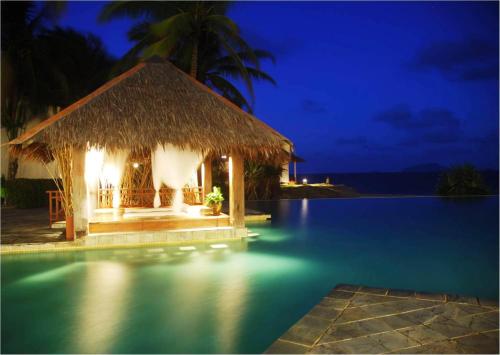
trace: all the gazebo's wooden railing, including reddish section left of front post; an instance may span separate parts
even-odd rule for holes
[[[204,200],[203,188],[186,187],[182,189],[184,203],[188,205],[201,205]],[[50,225],[65,219],[60,191],[47,191],[49,195],[49,221]],[[155,191],[153,189],[121,189],[121,207],[153,207]],[[172,206],[175,190],[163,187],[160,189],[162,207]],[[113,207],[113,189],[99,189],[97,194],[98,208]]]

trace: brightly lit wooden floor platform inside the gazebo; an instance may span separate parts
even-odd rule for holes
[[[116,216],[113,213],[98,214],[89,221],[89,233],[142,232],[176,230],[190,228],[228,227],[229,216],[190,216],[186,213],[157,215],[147,212],[140,216],[124,213]]]

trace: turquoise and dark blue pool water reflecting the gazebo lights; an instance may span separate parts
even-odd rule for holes
[[[2,352],[259,353],[337,283],[498,297],[498,198],[293,200],[258,239],[2,258]]]

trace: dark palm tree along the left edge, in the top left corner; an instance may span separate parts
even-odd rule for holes
[[[2,1],[2,127],[9,140],[16,138],[33,115],[43,110],[37,78],[36,35],[63,9],[60,2]],[[9,157],[9,179],[17,173]]]

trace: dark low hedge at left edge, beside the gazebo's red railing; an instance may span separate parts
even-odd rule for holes
[[[46,207],[49,198],[46,191],[57,190],[52,179],[6,180],[7,203],[17,208]]]

